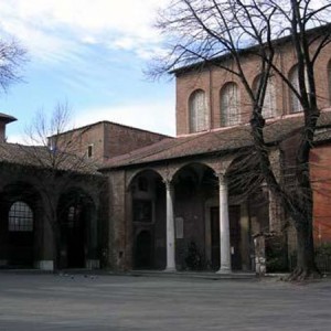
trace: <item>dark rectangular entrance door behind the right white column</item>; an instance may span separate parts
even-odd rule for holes
[[[241,256],[241,206],[228,206],[231,265],[233,270],[242,269]],[[211,209],[212,268],[220,269],[220,210]]]

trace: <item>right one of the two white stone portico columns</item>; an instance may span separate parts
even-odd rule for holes
[[[227,183],[223,173],[218,174],[220,184],[220,248],[221,264],[217,274],[231,273],[231,246],[229,246],[229,222],[228,222],[228,201]]]

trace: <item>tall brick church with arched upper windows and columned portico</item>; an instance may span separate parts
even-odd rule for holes
[[[298,85],[289,39],[277,44],[276,58],[284,75]],[[229,60],[224,56],[217,61]],[[257,62],[243,51],[243,70],[253,87],[259,79]],[[320,244],[329,237],[331,216],[330,45],[320,54],[316,73],[322,111],[311,152],[311,177],[314,235]],[[213,65],[194,64],[173,74],[177,138],[113,158],[100,169],[110,186],[110,266],[253,270],[258,264],[254,237],[259,235],[278,238],[288,252],[284,256],[287,265],[288,256],[296,249],[293,227],[276,196],[263,183],[252,193],[254,178],[245,178],[241,172],[246,166],[245,156],[253,153],[248,127],[252,108],[242,82]],[[298,99],[277,75],[270,78],[263,115],[267,119],[264,132],[273,167],[278,179],[291,185],[291,162],[303,117]],[[233,180],[241,177],[244,191]]]

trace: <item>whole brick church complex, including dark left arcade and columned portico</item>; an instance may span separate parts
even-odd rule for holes
[[[330,50],[328,45],[316,63],[317,95],[322,109],[311,151],[317,245],[331,238]],[[288,40],[278,44],[276,57],[284,75],[297,84],[296,60]],[[242,61],[255,86],[259,79],[257,60],[243,52]],[[248,126],[249,99],[242,83],[216,66],[196,68],[193,65],[173,72],[175,138],[108,121],[51,137],[51,147],[74,140],[71,152],[97,164],[98,170],[75,177],[65,191],[54,191],[53,199],[58,205],[64,204],[58,209],[64,212],[62,247],[57,253],[64,267],[102,264],[114,270],[254,270],[258,263],[254,238],[271,234],[280,238],[288,254],[295,250],[293,229],[279,201],[257,181],[254,171],[246,171],[247,166],[254,170],[258,164],[254,162]],[[277,75],[268,86],[263,109],[267,119],[265,137],[278,179],[290,185],[302,113]],[[0,128],[13,120],[6,115],[0,119]],[[52,268],[56,253],[50,244],[54,241],[52,231],[43,220],[43,194],[34,181],[38,164],[29,164],[28,169],[26,161],[15,157],[21,154],[18,146],[2,142],[1,151],[0,260],[2,265],[23,263]],[[90,174],[103,183],[85,180]],[[73,200],[75,205],[66,203],[72,196],[77,196]],[[20,203],[15,205],[17,202]],[[11,220],[18,220],[19,231],[14,231]],[[20,225],[20,220],[29,225]],[[22,233],[28,233],[26,238]],[[23,242],[30,243],[29,258],[21,255]]]

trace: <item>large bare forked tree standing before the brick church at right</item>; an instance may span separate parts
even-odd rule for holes
[[[168,53],[157,58],[150,72],[159,76],[180,67],[216,66],[237,76],[250,99],[250,131],[259,171],[278,196],[297,231],[297,268],[292,279],[319,275],[312,235],[312,188],[309,153],[320,116],[314,65],[331,41],[330,1],[313,0],[174,0],[163,11],[158,28],[166,34]],[[292,43],[299,84],[281,71],[277,47]],[[257,86],[252,86],[243,55],[258,60]],[[282,185],[275,173],[265,138],[263,114],[271,76],[278,76],[298,98],[303,124],[295,157],[295,190]]]

